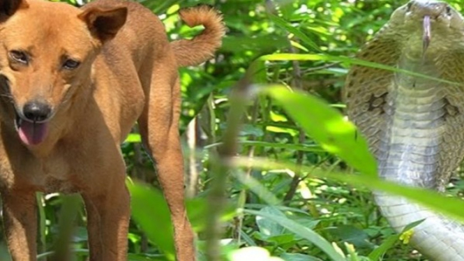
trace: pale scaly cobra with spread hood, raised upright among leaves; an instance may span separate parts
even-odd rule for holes
[[[463,17],[447,3],[410,1],[357,58],[458,83],[352,66],[344,89],[348,117],[367,138],[380,177],[443,191],[464,157]],[[421,253],[431,260],[464,260],[463,223],[403,197],[374,195],[397,232],[425,219],[411,239]]]

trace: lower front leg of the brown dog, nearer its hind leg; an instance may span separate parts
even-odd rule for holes
[[[127,260],[130,195],[122,165],[122,171],[101,174],[103,179],[93,181],[91,191],[82,193],[87,210],[90,261]]]

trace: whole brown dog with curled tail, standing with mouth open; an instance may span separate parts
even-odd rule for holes
[[[126,260],[129,194],[119,144],[138,122],[157,163],[174,223],[177,260],[194,260],[184,208],[178,66],[220,45],[220,15],[181,12],[193,40],[169,43],[137,3],[100,0],[79,9],[0,0],[0,184],[13,260],[36,260],[35,192],[81,193],[90,260]]]

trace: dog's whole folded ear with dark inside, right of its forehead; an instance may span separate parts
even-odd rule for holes
[[[127,8],[119,7],[109,10],[89,8],[84,10],[78,17],[87,23],[92,35],[103,43],[114,38],[124,25],[127,18]]]

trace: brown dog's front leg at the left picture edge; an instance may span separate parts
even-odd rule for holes
[[[13,261],[36,260],[36,193],[2,191],[3,225]]]

